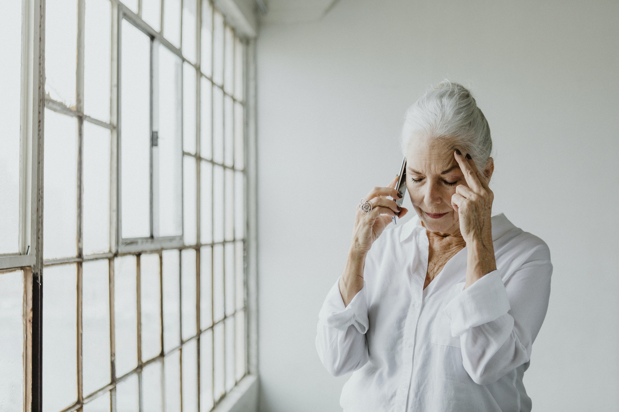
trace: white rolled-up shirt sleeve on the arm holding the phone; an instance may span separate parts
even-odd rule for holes
[[[344,306],[339,281],[329,291],[318,316],[316,350],[333,376],[356,371],[368,361],[365,333],[370,327],[366,286]]]

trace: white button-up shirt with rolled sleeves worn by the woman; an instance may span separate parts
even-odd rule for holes
[[[550,251],[500,214],[496,271],[464,289],[467,249],[423,289],[428,237],[417,217],[387,228],[344,306],[338,283],[319,314],[316,348],[331,374],[353,372],[345,412],[530,411],[522,384],[550,295]]]

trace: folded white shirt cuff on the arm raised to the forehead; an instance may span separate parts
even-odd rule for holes
[[[508,313],[509,300],[498,271],[492,271],[459,292],[445,306],[452,337],[468,329],[494,321]]]

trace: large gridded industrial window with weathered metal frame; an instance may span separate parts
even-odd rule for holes
[[[208,0],[3,16],[3,405],[212,410],[248,373],[247,41]]]

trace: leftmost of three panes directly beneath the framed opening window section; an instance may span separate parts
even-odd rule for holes
[[[137,366],[137,262],[121,256],[114,262],[114,322],[116,376]]]

